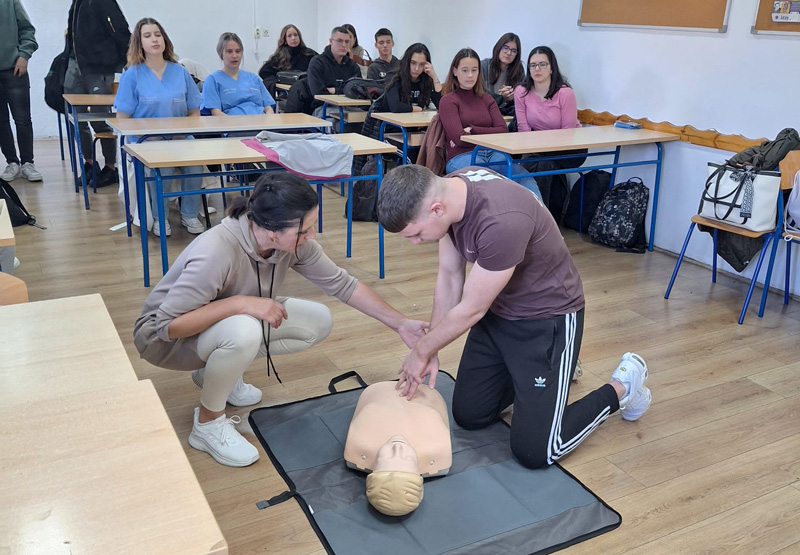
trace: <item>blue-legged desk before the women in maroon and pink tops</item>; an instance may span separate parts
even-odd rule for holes
[[[648,248],[653,250],[653,240],[656,230],[656,213],[658,210],[658,191],[661,181],[661,162],[663,160],[663,147],[661,143],[677,141],[680,137],[671,133],[651,131],[649,129],[621,129],[613,125],[597,127],[581,127],[578,129],[553,129],[550,131],[524,131],[520,133],[492,133],[488,135],[464,135],[461,140],[465,143],[476,145],[472,150],[472,164],[475,165],[475,155],[482,149],[501,152],[506,157],[506,176],[512,176],[511,156],[524,154],[537,154],[543,152],[562,152],[577,149],[592,149],[614,147],[614,150],[603,152],[592,152],[588,156],[614,155],[612,164],[600,164],[581,166],[575,169],[553,170],[547,172],[533,172],[519,174],[520,176],[536,177],[537,175],[558,175],[574,173],[576,171],[589,171],[600,169],[611,169],[611,183],[614,184],[614,177],[617,168],[629,166],[643,166],[655,164],[656,180],[653,186],[653,211],[650,218],[650,242]],[[650,144],[656,145],[658,156],[654,160],[642,160],[639,162],[619,162],[620,149],[627,145]],[[564,155],[570,157],[570,155]],[[574,155],[586,156],[585,154]],[[551,160],[550,157],[540,157],[537,160]],[[519,160],[517,160],[519,162]]]

